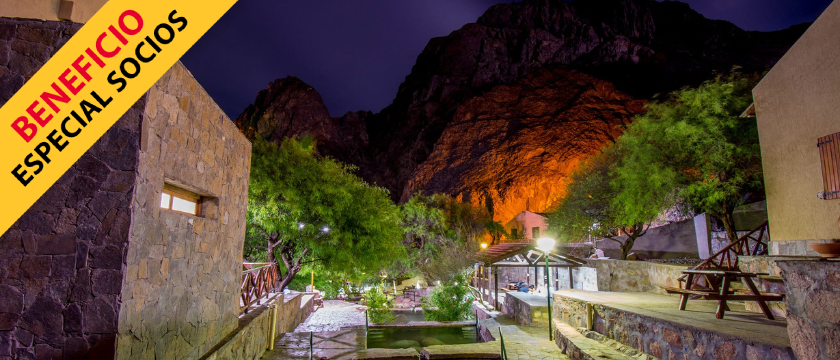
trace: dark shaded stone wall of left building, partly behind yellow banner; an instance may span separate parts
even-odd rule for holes
[[[79,27],[0,18],[0,106]],[[113,357],[145,101],[0,237],[0,358]]]

